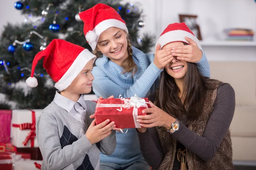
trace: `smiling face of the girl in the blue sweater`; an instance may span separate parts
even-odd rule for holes
[[[99,36],[96,49],[115,62],[128,57],[127,34],[122,29],[111,27]]]

